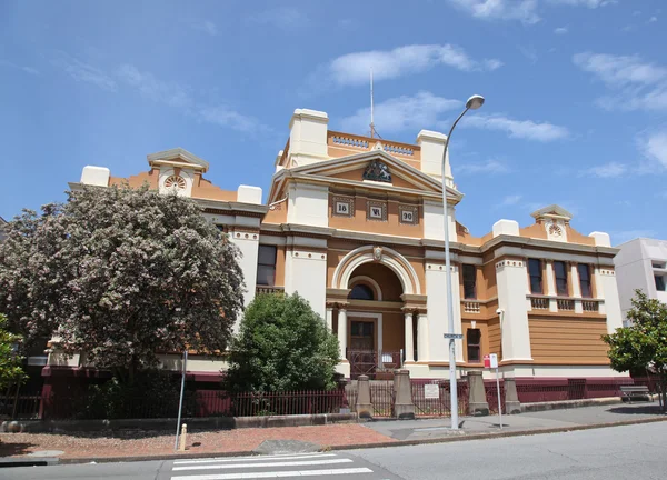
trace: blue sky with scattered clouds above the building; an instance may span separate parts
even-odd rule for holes
[[[386,139],[486,97],[450,147],[474,234],[559,203],[586,234],[667,238],[666,21],[660,0],[4,0],[0,214],[173,147],[266,194],[296,108],[367,133],[372,67]]]

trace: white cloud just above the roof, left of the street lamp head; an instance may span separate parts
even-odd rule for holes
[[[435,126],[442,112],[461,108],[462,102],[421,91],[414,97],[402,96],[376,103],[375,126],[380,134],[407,129],[425,129]],[[344,118],[341,128],[349,132],[366,132],[370,123],[370,108],[357,110]]]

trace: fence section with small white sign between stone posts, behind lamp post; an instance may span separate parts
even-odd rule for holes
[[[436,391],[426,386],[437,386],[437,398],[434,398]],[[451,416],[451,396],[449,381],[445,380],[411,380],[412,403],[415,403],[415,416],[417,417],[450,417]],[[428,389],[428,396],[427,396]],[[468,382],[459,380],[457,382],[458,413],[468,414]]]

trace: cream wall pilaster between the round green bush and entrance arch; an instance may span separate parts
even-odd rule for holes
[[[298,292],[326,318],[327,254],[307,250],[288,251],[285,259],[285,291]]]

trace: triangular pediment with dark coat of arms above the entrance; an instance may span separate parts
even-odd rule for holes
[[[337,158],[308,166],[280,171],[277,176],[311,177],[328,179],[331,183],[372,186],[374,188],[405,189],[415,193],[442,194],[442,184],[422,171],[396,159],[384,150],[374,150],[355,156]],[[462,194],[447,188],[448,197],[460,200]]]

